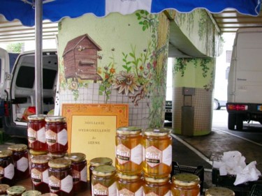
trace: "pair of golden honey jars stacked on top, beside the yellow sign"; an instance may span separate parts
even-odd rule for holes
[[[147,176],[166,177],[172,170],[170,129],[129,126],[117,129],[117,172],[127,175],[144,172]]]

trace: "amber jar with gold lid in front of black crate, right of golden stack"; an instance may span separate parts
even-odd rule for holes
[[[174,196],[199,196],[200,179],[198,176],[189,173],[175,174],[172,176],[171,193]]]

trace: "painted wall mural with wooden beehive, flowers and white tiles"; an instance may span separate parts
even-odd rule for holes
[[[169,21],[132,15],[85,15],[59,24],[62,103],[126,103],[129,125],[163,126]]]

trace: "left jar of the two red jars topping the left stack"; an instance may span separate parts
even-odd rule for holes
[[[48,145],[45,139],[45,117],[43,114],[28,116],[27,139],[29,149],[34,151],[47,151]]]

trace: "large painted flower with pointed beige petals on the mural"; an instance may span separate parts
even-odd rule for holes
[[[126,96],[129,92],[134,94],[135,91],[138,91],[138,86],[140,86],[140,84],[133,73],[120,71],[119,74],[115,75],[113,88],[119,89],[118,93],[125,93]]]

